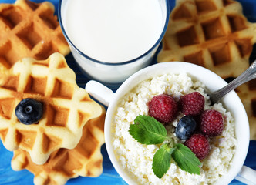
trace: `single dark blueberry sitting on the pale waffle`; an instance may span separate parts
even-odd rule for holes
[[[15,115],[25,125],[38,123],[42,118],[42,103],[31,98],[22,99],[16,106]]]

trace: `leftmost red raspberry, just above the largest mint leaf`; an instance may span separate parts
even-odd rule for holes
[[[176,101],[168,95],[154,96],[149,103],[149,114],[161,123],[170,123],[176,116],[178,106]]]

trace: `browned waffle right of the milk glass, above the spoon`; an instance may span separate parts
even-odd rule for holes
[[[219,76],[239,76],[248,68],[256,23],[232,0],[177,0],[157,62],[183,61]]]

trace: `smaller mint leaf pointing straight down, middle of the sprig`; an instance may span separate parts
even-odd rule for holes
[[[161,146],[153,156],[152,169],[158,178],[162,178],[170,168],[171,154],[175,148],[169,148],[167,144]]]

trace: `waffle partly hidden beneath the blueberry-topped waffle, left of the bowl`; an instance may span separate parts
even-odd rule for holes
[[[103,156],[100,148],[104,143],[105,114],[103,108],[101,116],[86,123],[83,127],[83,136],[76,148],[56,150],[43,165],[33,163],[29,153],[15,150],[12,168],[27,169],[34,173],[35,184],[65,184],[69,178],[79,175],[98,177],[103,172]]]

